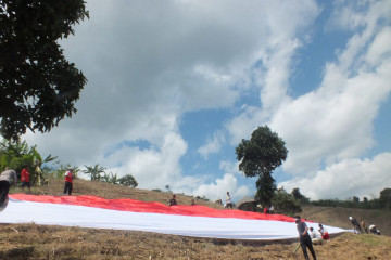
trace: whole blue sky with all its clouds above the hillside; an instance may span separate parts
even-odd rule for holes
[[[77,114],[27,133],[64,164],[139,187],[235,200],[255,179],[235,147],[268,125],[279,186],[312,199],[391,187],[390,1],[87,1],[61,41],[88,83]]]

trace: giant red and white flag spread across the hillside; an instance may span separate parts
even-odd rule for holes
[[[288,239],[298,237],[293,218],[205,206],[178,205],[96,196],[10,195],[0,223],[35,223],[93,229],[155,232],[229,239]],[[307,222],[318,230],[318,223]],[[324,225],[330,234],[346,232]]]

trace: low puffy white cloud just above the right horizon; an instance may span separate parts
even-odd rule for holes
[[[373,159],[343,159],[317,171],[314,177],[299,177],[279,183],[279,186],[288,192],[300,187],[300,192],[312,199],[344,199],[352,196],[371,199],[391,186],[390,171],[391,153],[382,153]]]

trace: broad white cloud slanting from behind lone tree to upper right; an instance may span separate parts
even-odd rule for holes
[[[390,29],[378,26],[377,23],[389,20],[389,13],[390,6],[384,1],[375,2],[367,9],[355,9],[351,4],[344,5],[341,11],[336,9],[332,16],[338,17],[333,20],[339,24],[338,28],[360,29],[354,30],[344,49],[338,50],[337,61],[325,64],[321,83],[295,99],[288,96],[287,91],[280,91],[276,95],[279,101],[276,101],[268,91],[276,87],[265,80],[258,81],[264,106],[244,106],[242,113],[227,123],[232,143],[238,142],[240,136],[250,135],[254,126],[267,123],[287,143],[289,156],[282,169],[300,179],[300,182],[292,183],[301,188],[305,183],[307,195],[314,198],[326,195],[340,197],[353,193],[355,182],[351,188],[342,188],[337,182],[341,174],[354,174],[343,167],[340,171],[329,169],[346,161],[361,161],[361,156],[375,144],[374,121],[391,91],[391,77],[387,73],[391,69],[391,46],[387,44],[390,41]],[[279,60],[279,63],[285,61],[280,69],[287,73],[279,74],[277,86],[282,86],[286,90],[295,48],[293,46]],[[264,78],[273,77],[273,66],[265,72]],[[265,106],[268,103],[277,105]],[[374,160],[373,166],[377,162],[382,160]],[[361,166],[364,167],[363,164],[357,164],[357,167]],[[328,169],[328,178],[321,182],[326,176],[326,171],[321,170],[324,168]],[[360,172],[371,173],[366,169]],[[377,174],[384,172],[374,174],[377,178]],[[312,184],[314,181],[316,182]],[[299,185],[300,183],[302,184]],[[318,192],[320,183],[324,192]],[[290,182],[281,183],[287,184],[294,187]],[[379,186],[371,191],[376,188]],[[326,191],[335,195],[327,194]]]

